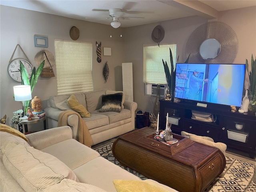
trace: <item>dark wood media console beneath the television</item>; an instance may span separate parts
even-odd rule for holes
[[[191,119],[192,110],[207,112],[216,116],[216,122],[200,122]],[[196,102],[170,102],[160,100],[159,126],[164,129],[166,114],[172,123],[172,132],[186,131],[200,136],[208,136],[214,142],[223,142],[228,148],[243,151],[254,158],[256,152],[256,116],[252,113],[230,111],[230,106],[207,104],[197,106]]]

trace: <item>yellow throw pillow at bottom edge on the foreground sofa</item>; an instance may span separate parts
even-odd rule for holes
[[[165,188],[147,180],[113,180],[117,192],[168,192]]]

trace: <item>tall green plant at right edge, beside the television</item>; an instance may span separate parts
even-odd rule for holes
[[[248,72],[249,75],[249,83],[250,86],[247,89],[248,93],[250,95],[250,100],[255,101],[256,102],[256,57],[255,60],[253,58],[251,58],[251,70],[249,71],[249,66],[248,66],[248,60],[246,59],[246,70]]]

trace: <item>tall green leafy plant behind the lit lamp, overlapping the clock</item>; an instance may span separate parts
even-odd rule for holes
[[[36,86],[37,79],[44,68],[44,61],[45,60],[43,60],[43,62],[38,66],[37,70],[35,67],[33,68],[30,79],[28,78],[28,72],[27,72],[26,68],[24,67],[23,63],[20,61],[21,84],[22,85],[30,85],[31,94],[32,94],[34,87]],[[24,101],[24,103],[23,103],[24,108],[25,108],[24,114],[26,114],[26,112],[28,111],[29,102],[30,102],[30,100],[27,100],[27,101]]]

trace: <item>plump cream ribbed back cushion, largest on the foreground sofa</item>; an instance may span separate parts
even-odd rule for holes
[[[3,163],[25,191],[40,191],[64,178],[79,182],[76,174],[58,158],[22,143],[4,152]]]

